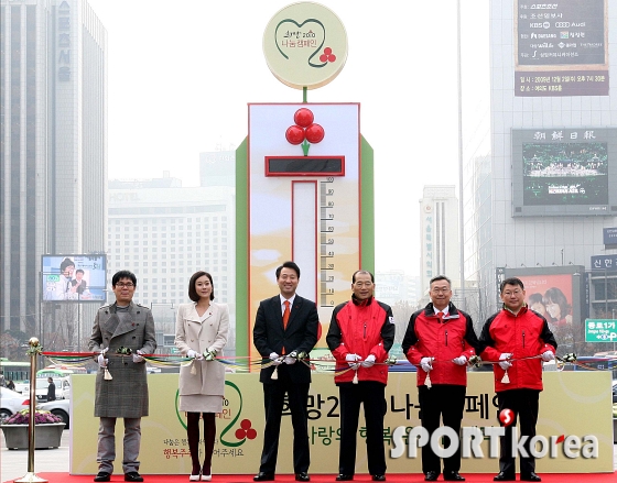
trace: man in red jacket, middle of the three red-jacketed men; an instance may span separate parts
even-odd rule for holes
[[[478,339],[472,317],[451,304],[450,278],[444,275],[430,282],[431,303],[409,319],[402,349],[409,362],[418,366],[418,398],[422,427],[430,436],[444,426],[461,432],[467,389],[467,361],[476,354]],[[431,381],[429,383],[429,381]],[[465,481],[461,470],[461,444],[444,459],[444,480]],[[440,458],[431,444],[422,447],[422,472],[425,481],[436,481]]]

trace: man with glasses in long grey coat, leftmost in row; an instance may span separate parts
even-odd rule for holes
[[[148,307],[132,301],[137,277],[120,271],[111,278],[116,301],[98,309],[88,347],[99,354],[95,416],[100,418],[96,482],[110,481],[116,459],[116,419],[125,418],[125,481],[140,482],[141,417],[148,416],[148,381],[143,354],[156,350],[154,319]]]

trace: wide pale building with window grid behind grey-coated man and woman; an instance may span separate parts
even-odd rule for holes
[[[229,305],[226,353],[235,350],[234,210],[234,189],[226,186],[184,188],[169,173],[109,180],[108,276],[137,275],[134,300],[152,308],[163,352],[172,352],[173,337],[164,336],[174,333],[174,308],[191,301],[188,281],[199,270],[213,276],[215,301]]]

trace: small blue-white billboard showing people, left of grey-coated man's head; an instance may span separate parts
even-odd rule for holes
[[[106,299],[106,255],[43,255],[43,301]]]

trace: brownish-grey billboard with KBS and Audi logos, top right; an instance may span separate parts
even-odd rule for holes
[[[608,96],[607,0],[515,9],[515,96]]]

